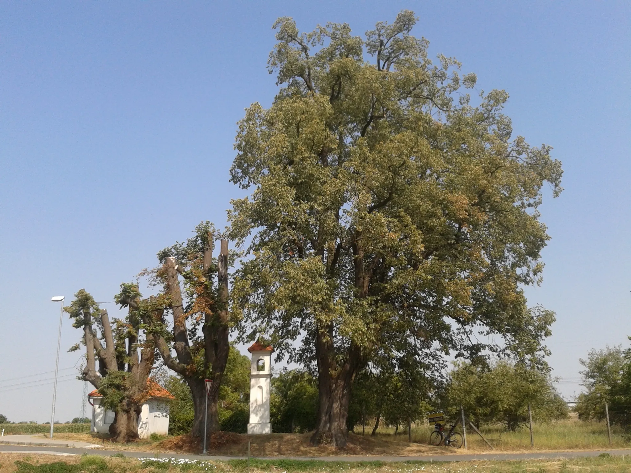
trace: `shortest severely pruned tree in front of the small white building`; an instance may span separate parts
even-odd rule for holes
[[[114,319],[112,330],[107,310],[100,309],[85,289],[74,295],[64,312],[73,318],[74,328],[83,329],[81,342],[86,349],[86,364],[81,379],[103,395],[103,407],[114,411],[110,425],[114,441],[138,440],[138,416],[154,361],[151,339],[139,339],[140,321],[133,312],[127,320]],[[71,351],[77,349],[79,344],[71,347]]]

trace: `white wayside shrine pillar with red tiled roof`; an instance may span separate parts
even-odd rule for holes
[[[247,433],[252,435],[272,433],[269,423],[269,384],[272,377],[271,358],[274,349],[254,342],[247,349],[252,353],[250,368],[250,423]]]

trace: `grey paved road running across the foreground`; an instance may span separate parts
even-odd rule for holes
[[[28,445],[0,445],[0,453],[49,453],[57,455],[59,453],[70,453],[81,455],[88,453],[90,455],[110,456],[115,453],[122,453],[126,457],[160,457],[160,458],[188,458],[190,460],[236,460],[245,459],[247,457],[228,457],[221,455],[180,455],[177,453],[160,453],[155,452],[117,452],[116,450],[102,450],[92,448],[63,448],[63,447],[30,447]],[[533,453],[476,453],[471,455],[417,455],[411,457],[386,457],[386,456],[339,456],[339,457],[252,457],[261,460],[278,460],[280,458],[286,460],[322,460],[324,462],[463,462],[470,460],[533,460],[536,458],[579,458],[579,457],[598,457],[601,453],[610,453],[611,455],[631,455],[631,450],[591,450],[588,452],[533,452]]]

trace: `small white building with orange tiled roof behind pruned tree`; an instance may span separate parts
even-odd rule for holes
[[[100,406],[103,396],[98,390],[88,394],[88,402],[92,406],[91,432],[109,433],[114,422],[114,412],[106,411]],[[175,397],[158,383],[149,380],[143,411],[138,416],[138,436],[149,438],[152,433],[168,434],[168,400]]]

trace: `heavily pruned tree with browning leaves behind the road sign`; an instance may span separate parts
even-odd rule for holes
[[[208,397],[208,433],[219,429],[220,385],[230,351],[228,240],[221,240],[215,262],[213,235],[213,226],[201,223],[186,243],[176,243],[158,254],[161,266],[150,273],[153,282],[162,286],[157,296],[143,299],[138,286],[127,283],[121,284],[121,293],[116,296],[143,321],[165,365],[187,383],[194,406],[191,433],[196,436],[204,434],[205,378],[213,380]],[[170,323],[168,315],[172,316]]]

